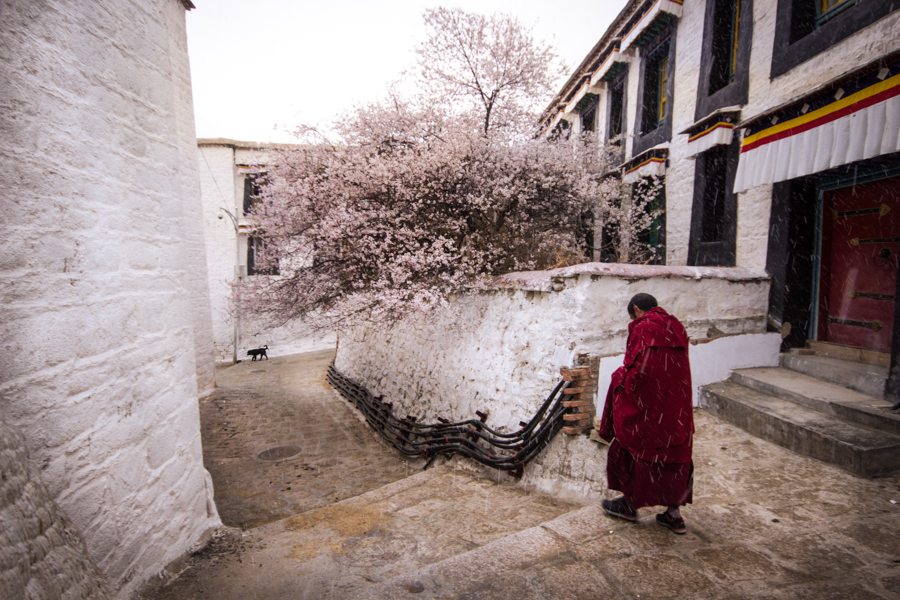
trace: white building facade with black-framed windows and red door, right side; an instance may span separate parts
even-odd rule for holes
[[[764,269],[785,346],[886,364],[900,342],[898,92],[896,3],[633,0],[543,127],[621,136],[625,182],[664,178],[666,264]]]

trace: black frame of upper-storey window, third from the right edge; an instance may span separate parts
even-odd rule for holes
[[[641,152],[649,150],[658,144],[671,141],[672,139],[672,105],[675,100],[675,26],[677,23],[677,21],[672,22],[666,29],[666,32],[660,36],[658,42],[648,47],[646,51],[641,52],[641,70],[640,79],[638,80],[638,103],[637,114],[635,115],[634,144],[631,150],[632,156],[637,156]],[[663,48],[664,46],[665,48]],[[669,75],[666,80],[665,89],[666,110],[662,121],[657,121],[656,127],[649,131],[643,131],[644,111],[650,108],[654,111],[654,115],[656,115],[658,111],[658,97],[657,100],[652,102],[652,107],[650,106],[649,99],[645,98],[645,90],[650,91],[646,86],[648,76],[647,67],[653,66],[652,63],[648,65],[648,60],[646,60],[646,58],[652,55],[659,57],[660,55],[657,53],[664,53],[668,59],[667,69]],[[652,71],[649,75],[658,77],[659,73],[658,71]]]

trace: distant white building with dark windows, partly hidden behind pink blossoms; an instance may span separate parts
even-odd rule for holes
[[[271,327],[239,314],[232,303],[244,278],[273,275],[260,268],[262,239],[253,235],[248,217],[258,202],[274,147],[223,138],[197,140],[213,343],[220,362],[243,360],[249,348],[262,346],[278,356],[335,345],[334,334],[314,334],[297,322]]]

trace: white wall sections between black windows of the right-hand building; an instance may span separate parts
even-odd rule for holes
[[[777,3],[774,0],[753,3],[749,98],[742,107],[742,119],[753,117],[807,93],[819,84],[895,50],[897,40],[900,39],[900,11],[897,11],[857,31],[787,73],[770,79],[776,9]],[[694,123],[705,14],[705,0],[685,2],[676,30],[672,139],[663,144],[669,149],[669,168],[666,173],[666,262],[669,265],[684,265],[688,258],[694,160],[685,156],[688,136],[679,132]],[[626,149],[627,156],[630,157],[637,131],[642,59],[636,49],[629,50],[629,54],[631,64],[626,92]],[[606,127],[605,96],[606,93],[603,92],[600,102],[600,132],[605,132]],[[566,118],[573,123],[578,121],[577,113],[567,114]],[[738,195],[736,263],[740,267],[765,269],[771,196],[771,186],[762,186]]]

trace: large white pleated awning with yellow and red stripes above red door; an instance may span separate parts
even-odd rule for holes
[[[900,150],[900,61],[748,120],[734,191]]]

